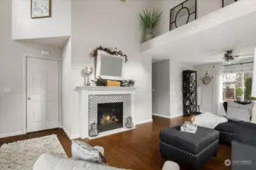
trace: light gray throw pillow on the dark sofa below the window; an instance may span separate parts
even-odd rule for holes
[[[229,101],[227,108],[227,119],[239,122],[245,121],[250,122],[251,119],[251,108],[254,104],[237,104],[235,102]]]

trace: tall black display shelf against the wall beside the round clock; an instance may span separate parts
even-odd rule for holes
[[[183,114],[191,116],[198,114],[197,108],[197,72],[183,71]]]

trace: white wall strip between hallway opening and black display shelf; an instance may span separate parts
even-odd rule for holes
[[[169,60],[169,62],[170,114],[171,117],[182,116],[182,72],[184,70],[194,70],[194,66],[189,63],[179,63],[175,60]]]

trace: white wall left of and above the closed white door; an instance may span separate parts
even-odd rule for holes
[[[0,137],[23,131],[23,54],[40,56],[41,49],[49,57],[61,58],[58,48],[50,48],[11,40],[11,1],[0,1]],[[10,87],[11,93],[4,93]]]

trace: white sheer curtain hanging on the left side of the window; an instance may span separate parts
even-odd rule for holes
[[[223,65],[213,67],[213,113],[225,116],[223,107]]]

